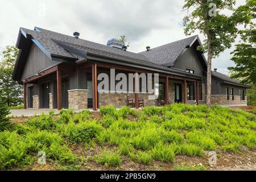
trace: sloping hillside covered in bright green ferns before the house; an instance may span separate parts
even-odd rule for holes
[[[205,169],[177,163],[207,161],[207,151],[256,149],[256,117],[242,110],[172,104],[100,113],[61,110],[16,123],[0,133],[0,169]],[[46,152],[44,166],[39,151]]]

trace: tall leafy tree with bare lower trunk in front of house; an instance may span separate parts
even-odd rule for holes
[[[253,2],[255,0],[247,0]],[[207,106],[210,107],[212,88],[212,59],[230,48],[234,42],[238,24],[249,23],[253,14],[244,6],[233,8],[234,0],[185,0],[183,9],[193,9],[192,13],[184,17],[184,32],[191,35],[199,30],[207,39],[203,47],[197,49],[207,52]],[[232,15],[221,14],[229,10]]]

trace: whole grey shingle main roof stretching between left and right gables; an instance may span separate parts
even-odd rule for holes
[[[191,44],[191,42],[196,38],[196,36],[192,36],[187,39],[182,39],[174,43],[153,48],[148,52],[146,51],[141,53],[134,53],[123,51],[122,49],[114,47],[105,46],[103,44],[90,42],[88,40],[75,39],[73,36],[49,31],[44,28],[35,28],[39,31],[28,30],[27,28],[22,28],[22,30],[26,32],[26,34],[32,35],[32,38],[38,40],[38,42],[42,44],[42,46],[52,55],[74,58],[71,53],[66,51],[63,47],[57,44],[57,42],[55,42],[55,40],[57,40],[63,44],[76,47],[77,49],[81,49],[88,53],[110,57],[113,59],[121,59],[134,64],[157,67],[161,69],[166,69],[166,67],[162,66],[164,63],[174,63],[184,48]]]

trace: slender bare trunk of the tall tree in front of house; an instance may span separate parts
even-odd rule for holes
[[[212,95],[212,36],[207,31],[207,107],[210,108]]]

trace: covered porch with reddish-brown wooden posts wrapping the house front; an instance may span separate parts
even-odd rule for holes
[[[168,75],[159,73],[159,89],[156,100],[148,100],[148,93],[141,92],[139,77],[134,77],[135,88],[139,92],[118,93],[109,88],[109,93],[98,92],[100,73],[109,74],[110,69],[117,73],[152,73],[146,69],[138,69],[116,64],[105,64],[95,61],[86,61],[79,65],[56,65],[45,71],[39,72],[23,81],[24,107],[34,109],[93,109],[105,105],[122,107],[134,102],[134,107],[150,105],[167,105],[174,102],[184,104],[199,104],[203,100],[203,85],[200,78]],[[203,89],[202,89],[203,88]]]

